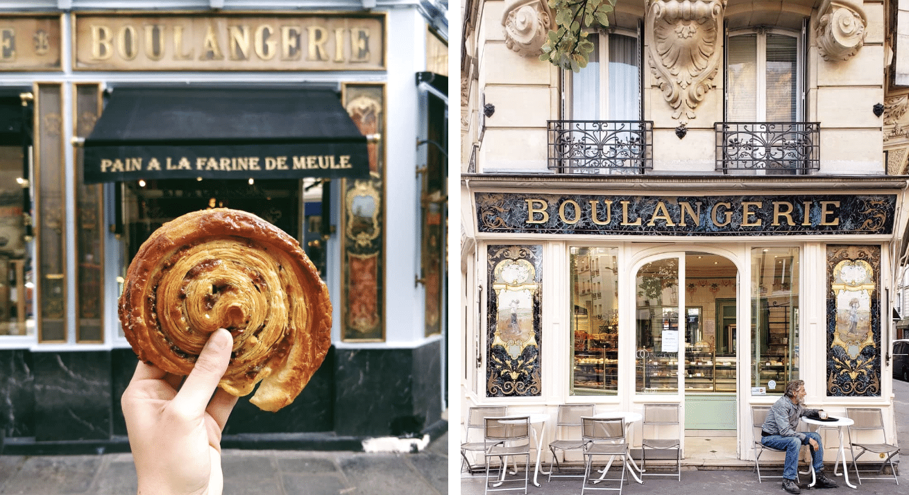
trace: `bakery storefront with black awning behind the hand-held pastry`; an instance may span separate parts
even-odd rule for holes
[[[430,74],[428,59],[389,58],[439,41],[415,5],[7,12],[0,38],[6,453],[128,449],[126,268],[162,224],[220,207],[295,238],[333,303],[332,347],[305,390],[274,413],[238,402],[225,446],[359,449],[445,429],[445,275],[415,283],[413,267],[441,270],[423,237],[444,223],[421,223],[414,180],[432,159],[413,146],[427,132],[415,74]]]

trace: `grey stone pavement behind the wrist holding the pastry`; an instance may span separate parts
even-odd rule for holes
[[[225,495],[442,495],[448,434],[414,454],[309,450],[223,452]],[[0,494],[135,495],[129,453],[0,455]]]

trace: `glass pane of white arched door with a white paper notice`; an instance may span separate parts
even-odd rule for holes
[[[678,391],[679,260],[649,262],[636,276],[634,391]]]

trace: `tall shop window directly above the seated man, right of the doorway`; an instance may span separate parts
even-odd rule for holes
[[[799,378],[799,249],[753,248],[751,386],[780,394]]]

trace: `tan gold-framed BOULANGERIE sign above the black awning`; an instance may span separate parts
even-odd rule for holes
[[[75,70],[385,70],[384,14],[74,15]]]

